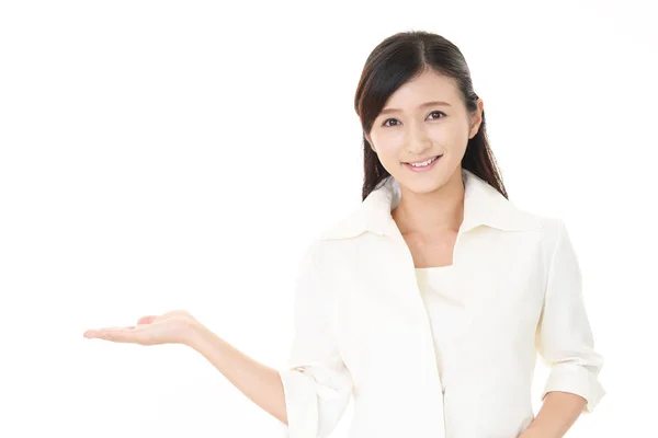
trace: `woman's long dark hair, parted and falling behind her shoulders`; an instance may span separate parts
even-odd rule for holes
[[[428,69],[452,78],[467,111],[477,110],[478,96],[473,90],[470,70],[462,51],[453,43],[443,36],[422,31],[400,32],[379,43],[365,61],[354,95],[354,110],[364,132],[362,200],[389,175],[371,148],[366,132],[370,134],[388,97],[404,83]],[[466,146],[462,168],[508,197],[487,140],[484,111],[479,129]]]

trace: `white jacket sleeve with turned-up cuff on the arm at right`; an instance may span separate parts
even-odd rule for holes
[[[593,349],[577,255],[564,222],[557,219],[556,224],[557,238],[537,326],[537,350],[551,367],[542,400],[551,391],[577,394],[587,401],[587,413],[605,394],[598,377],[603,358]]]

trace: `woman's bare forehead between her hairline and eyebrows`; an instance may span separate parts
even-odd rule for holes
[[[427,70],[397,89],[385,107],[416,110],[428,101],[443,101],[451,105],[460,102],[460,91],[453,78]]]

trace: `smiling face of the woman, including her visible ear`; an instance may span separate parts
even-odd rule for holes
[[[454,80],[427,70],[390,95],[366,139],[401,186],[433,192],[453,176],[461,178],[462,158],[477,134],[481,108],[478,100],[478,110],[469,115]],[[435,157],[424,169],[409,164]]]

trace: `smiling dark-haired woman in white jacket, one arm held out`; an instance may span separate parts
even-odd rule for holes
[[[514,207],[460,49],[399,33],[356,90],[363,203],[304,255],[288,367],[249,358],[185,311],[87,337],[180,343],[287,425],[327,437],[561,437],[604,395],[564,222]],[[536,353],[551,366],[532,411]]]

